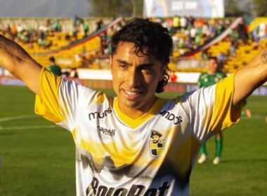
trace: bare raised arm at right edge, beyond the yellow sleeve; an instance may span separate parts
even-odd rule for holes
[[[267,81],[267,48],[261,51],[247,66],[235,73],[233,105],[237,106]]]

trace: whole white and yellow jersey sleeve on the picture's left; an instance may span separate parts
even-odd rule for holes
[[[84,103],[81,97],[90,99],[94,90],[55,76],[47,69],[41,71],[40,84],[41,95],[36,96],[35,113],[67,130],[74,130],[77,114],[83,107],[79,103]]]

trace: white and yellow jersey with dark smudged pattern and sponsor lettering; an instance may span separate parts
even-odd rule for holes
[[[76,144],[77,195],[189,195],[202,141],[239,118],[233,76],[177,99],[157,99],[132,119],[106,97],[43,69],[35,112],[65,127]]]

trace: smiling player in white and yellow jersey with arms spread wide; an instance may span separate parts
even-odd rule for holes
[[[156,22],[134,19],[117,31],[113,98],[55,76],[0,36],[1,66],[37,94],[37,114],[72,134],[77,195],[189,195],[201,144],[237,122],[242,100],[267,80],[264,50],[216,85],[160,99],[155,92],[169,79],[171,45]]]

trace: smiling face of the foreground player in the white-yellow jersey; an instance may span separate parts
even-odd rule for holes
[[[155,102],[157,83],[164,78],[166,67],[155,56],[136,55],[134,43],[120,42],[110,57],[113,88],[119,108],[131,116],[131,111],[146,112]],[[145,49],[144,52],[146,52]]]

